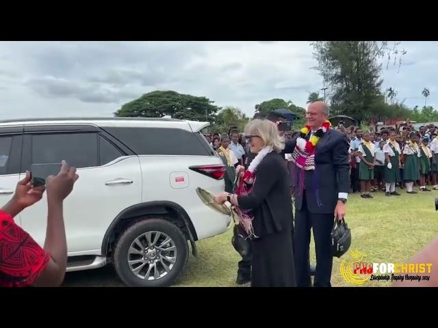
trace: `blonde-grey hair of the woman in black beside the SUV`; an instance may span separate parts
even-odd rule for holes
[[[275,152],[285,148],[285,138],[280,135],[279,129],[269,120],[252,120],[245,126],[246,135],[258,135],[263,139],[265,146],[272,146]]]

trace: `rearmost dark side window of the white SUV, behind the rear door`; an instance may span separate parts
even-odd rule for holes
[[[211,156],[198,133],[180,128],[105,128],[138,155]]]

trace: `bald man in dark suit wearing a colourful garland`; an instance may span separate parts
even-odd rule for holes
[[[328,111],[329,108],[324,102],[318,101],[309,105],[306,118],[311,131],[306,136],[306,141],[309,141],[313,134],[319,134],[317,131],[327,120]],[[293,152],[296,155],[298,147],[297,139],[288,141],[285,152]],[[350,191],[348,147],[348,139],[344,133],[329,129],[320,137],[315,146],[314,165],[307,166],[300,171],[302,169],[291,162],[293,178],[304,178],[301,183],[295,180],[293,187],[296,209],[295,269],[298,287],[311,285],[309,272],[311,228],[316,250],[316,272],[313,286],[331,286],[333,215],[339,220],[344,218],[348,191]],[[311,158],[311,154],[309,155]]]

